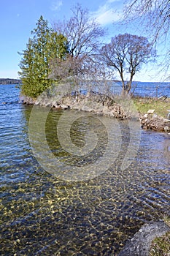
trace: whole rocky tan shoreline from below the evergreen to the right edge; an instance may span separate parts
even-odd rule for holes
[[[136,119],[136,121],[140,121],[142,129],[166,132],[170,135],[170,120],[158,116],[153,113],[154,111],[150,110],[148,110],[147,113],[140,113],[135,109],[132,103],[133,100],[130,99],[130,97],[121,99],[120,97],[108,97],[104,94],[90,91],[87,95],[69,95],[61,98],[47,97],[46,94],[42,94],[41,97],[37,99],[23,96],[20,102],[25,105],[39,105],[55,110],[82,110],[109,118],[133,118]]]

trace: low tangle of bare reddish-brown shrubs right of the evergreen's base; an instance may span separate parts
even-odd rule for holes
[[[91,61],[87,57],[82,60],[67,56],[65,61],[55,59],[51,67],[53,71],[50,78],[55,78],[61,84],[70,83],[72,91],[78,92],[85,89],[86,91],[97,90],[108,95],[110,93],[111,85],[108,81],[110,73],[98,59]]]

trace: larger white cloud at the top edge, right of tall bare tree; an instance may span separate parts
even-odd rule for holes
[[[98,8],[96,12],[92,13],[92,16],[96,18],[101,25],[107,25],[114,21],[120,20],[121,10],[120,1],[107,0],[106,3]]]

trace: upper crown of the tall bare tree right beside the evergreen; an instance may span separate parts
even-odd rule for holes
[[[93,56],[101,44],[105,30],[96,19],[90,18],[89,11],[77,4],[72,9],[72,17],[63,23],[54,23],[54,29],[63,33],[69,42],[71,56]]]

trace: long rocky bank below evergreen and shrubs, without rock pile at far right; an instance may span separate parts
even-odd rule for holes
[[[123,119],[129,117],[128,112],[125,112],[122,105],[115,102],[113,98],[93,91],[87,95],[81,94],[79,97],[66,96],[59,99],[55,97],[47,97],[47,95],[42,94],[41,97],[38,97],[35,100],[29,97],[21,97],[21,101],[23,104],[27,105],[42,105],[64,110],[70,108]]]

